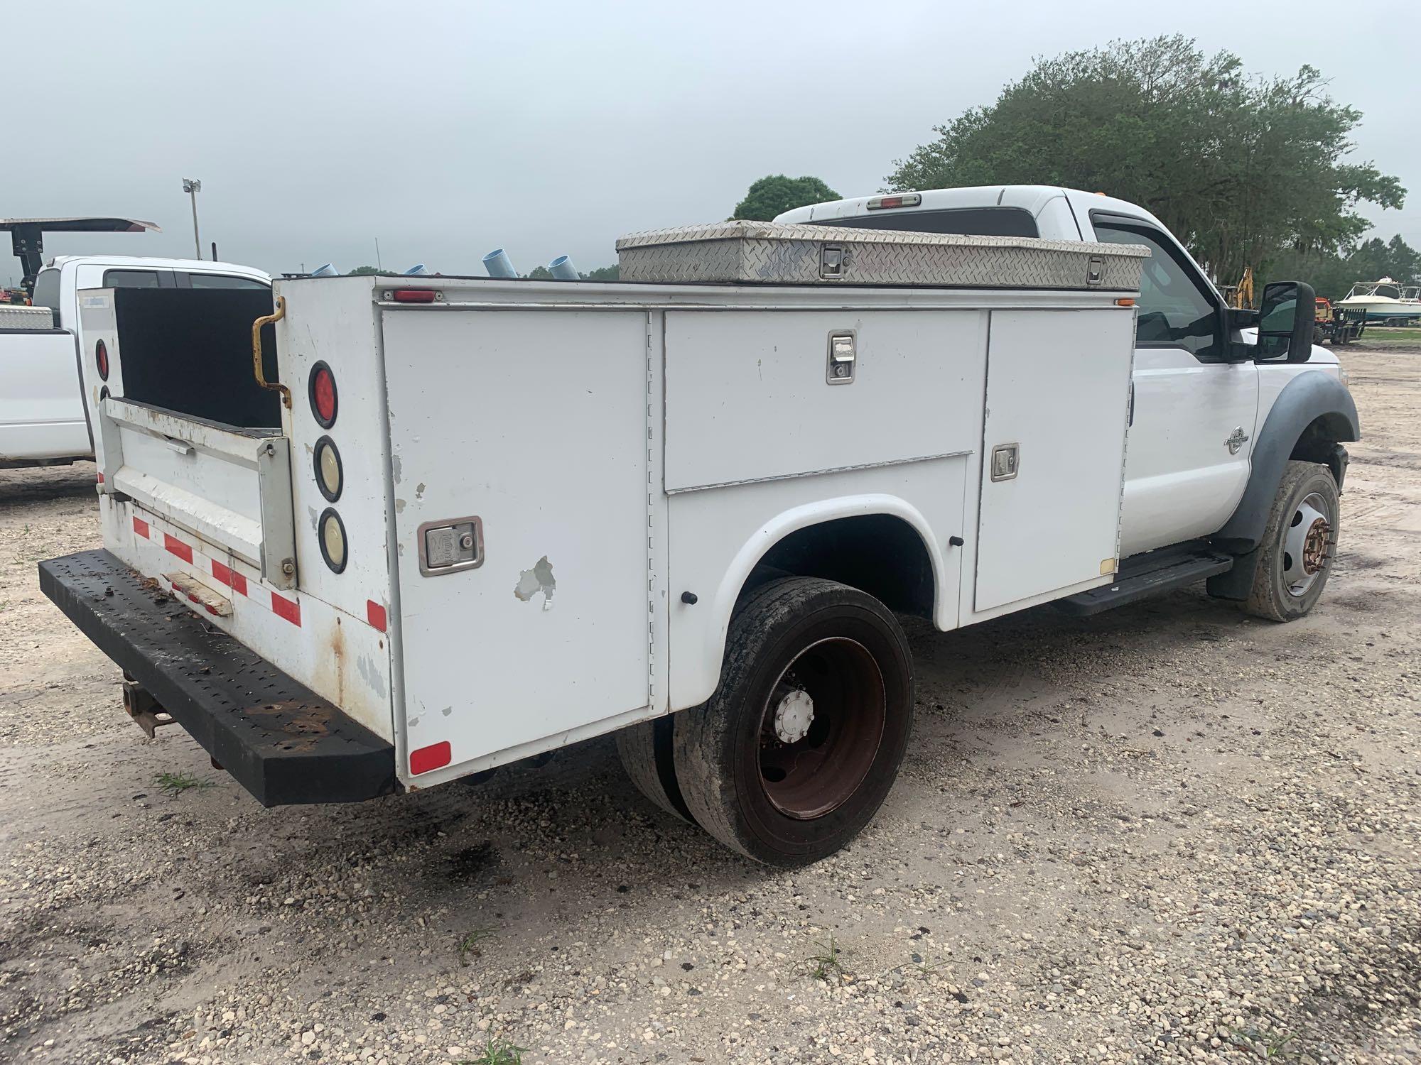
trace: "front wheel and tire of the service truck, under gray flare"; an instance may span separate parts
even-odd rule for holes
[[[1253,588],[1243,604],[1248,613],[1286,622],[1313,609],[1337,554],[1339,514],[1331,471],[1289,462],[1259,545]]]

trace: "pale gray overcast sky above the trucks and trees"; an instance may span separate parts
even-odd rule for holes
[[[1404,212],[1368,212],[1376,233],[1421,246],[1414,3],[1285,11],[4,0],[0,216],[163,227],[51,236],[47,256],[192,256],[190,176],[203,248],[270,271],[374,264],[377,237],[387,268],[479,273],[502,246],[524,273],[564,253],[590,270],[615,260],[621,233],[726,217],[766,173],[871,193],[1033,55],[1178,31],[1253,72],[1310,62],[1330,77],[1364,116],[1354,158],[1412,193]]]

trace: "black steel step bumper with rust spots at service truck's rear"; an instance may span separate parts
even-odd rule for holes
[[[40,589],[264,807],[396,790],[395,748],[108,551],[40,562]]]

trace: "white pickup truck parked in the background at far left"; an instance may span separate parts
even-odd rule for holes
[[[190,258],[58,256],[38,271],[34,310],[0,321],[0,467],[50,466],[94,456],[80,388],[85,288],[270,290],[253,267]],[[44,315],[48,311],[48,317]]]

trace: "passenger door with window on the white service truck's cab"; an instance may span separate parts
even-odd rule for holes
[[[1258,366],[1225,362],[1223,311],[1198,267],[1155,226],[1093,213],[1096,239],[1145,244],[1120,554],[1218,531],[1248,484]]]

